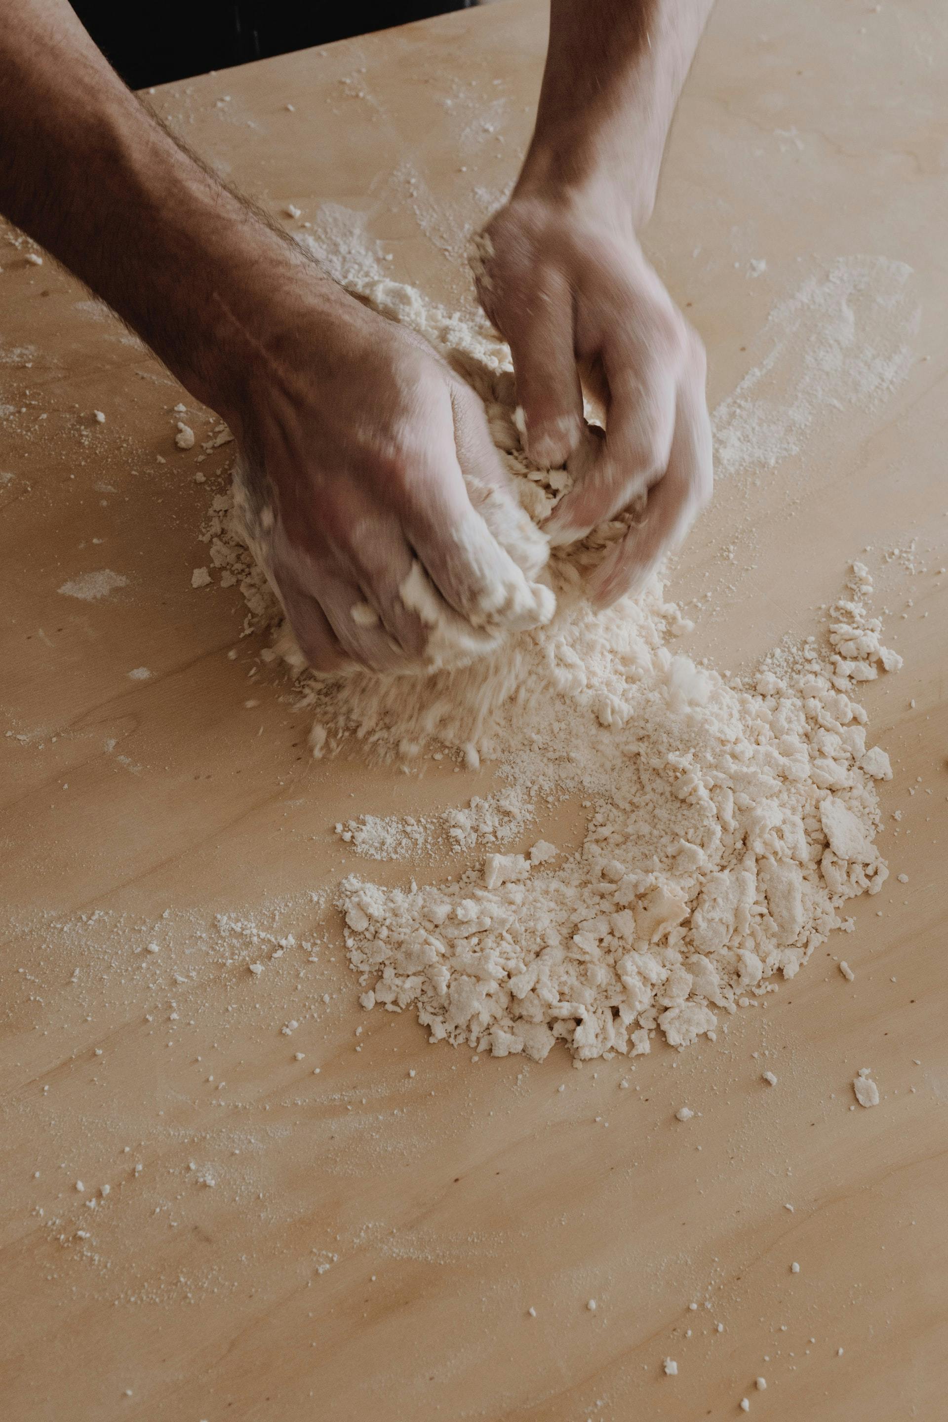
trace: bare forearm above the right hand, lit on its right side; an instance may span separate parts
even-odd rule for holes
[[[713,0],[551,0],[537,121],[517,193],[560,189],[648,220],[678,95]]]

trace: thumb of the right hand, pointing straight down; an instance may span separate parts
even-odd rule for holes
[[[515,304],[503,336],[513,356],[526,452],[542,469],[559,468],[583,428],[573,294],[559,272],[537,273],[529,306]]]

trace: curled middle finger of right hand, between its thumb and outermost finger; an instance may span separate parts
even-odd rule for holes
[[[604,356],[603,368],[605,442],[553,510],[544,532],[554,543],[586,538],[615,518],[662,476],[671,456],[679,361],[635,340]]]

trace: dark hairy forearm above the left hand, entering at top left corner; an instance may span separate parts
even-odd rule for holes
[[[65,0],[3,9],[0,209],[217,408],[240,401],[252,303],[304,263],[313,277],[151,117]]]

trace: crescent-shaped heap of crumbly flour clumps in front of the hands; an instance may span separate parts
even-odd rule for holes
[[[866,572],[850,582],[861,636]],[[549,657],[530,695],[495,708],[500,766],[520,788],[560,778],[590,795],[584,843],[553,866],[547,846],[488,855],[446,884],[347,880],[364,1001],[495,1055],[542,1059],[557,1039],[581,1059],[635,1055],[655,1031],[686,1047],[793,977],[843,904],[881,887],[884,766],[834,653],[810,644],[785,678],[726,683],[674,654],[667,626],[652,590],[532,634],[564,638],[576,663]]]

